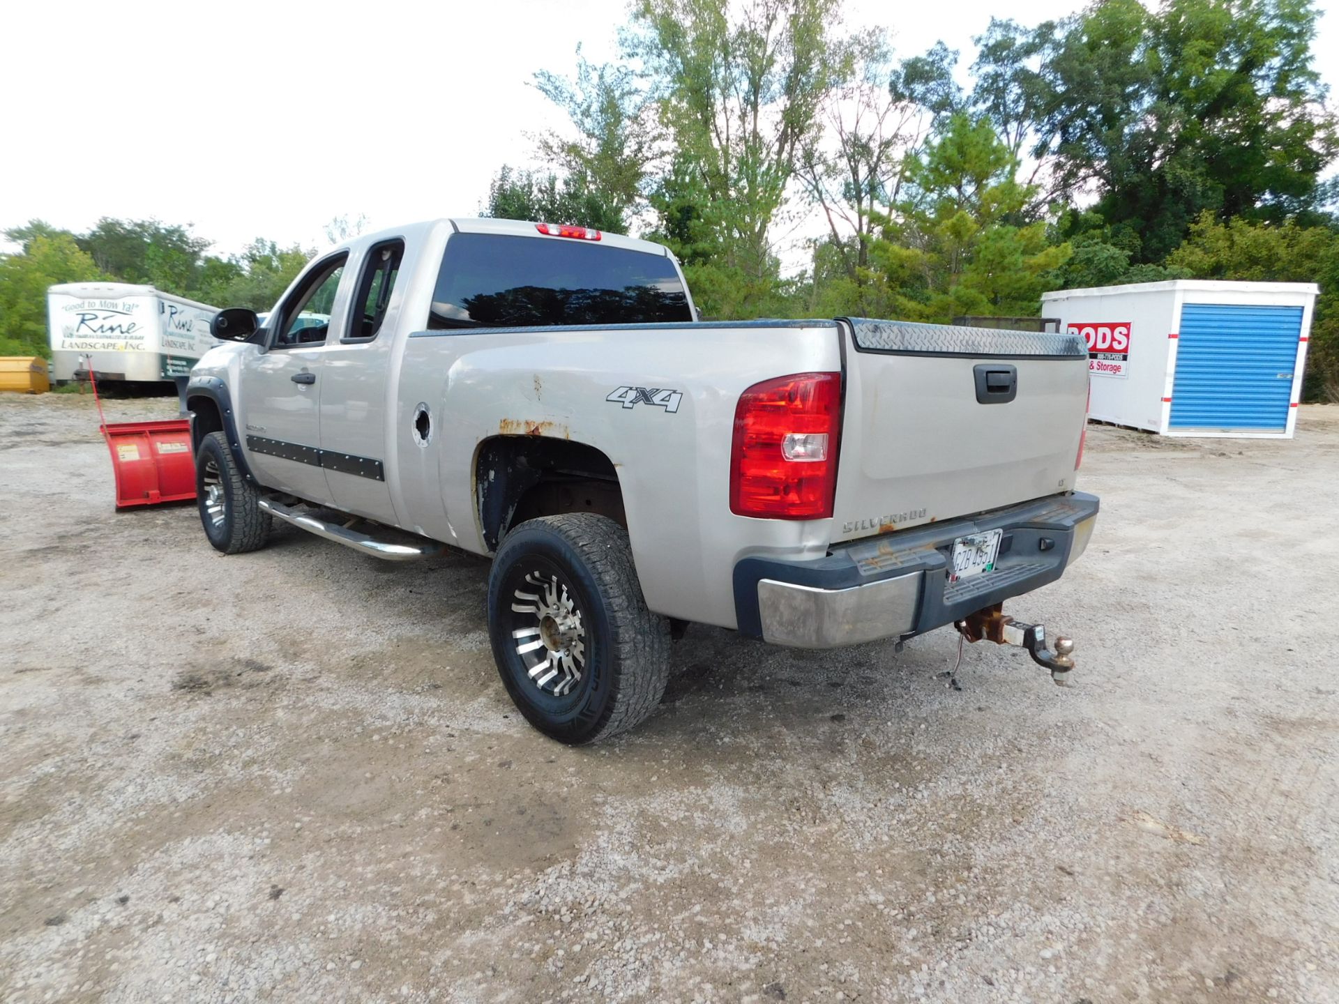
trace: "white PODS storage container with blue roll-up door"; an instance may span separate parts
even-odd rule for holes
[[[1089,345],[1090,418],[1181,436],[1291,438],[1308,282],[1174,280],[1042,293]]]

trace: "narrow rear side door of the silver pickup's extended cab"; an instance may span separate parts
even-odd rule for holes
[[[356,254],[356,252],[355,252]],[[374,244],[358,261],[339,331],[331,327],[321,371],[321,451],[335,506],[396,523],[386,482],[387,424],[395,406],[388,383],[400,297],[395,280],[404,241]]]

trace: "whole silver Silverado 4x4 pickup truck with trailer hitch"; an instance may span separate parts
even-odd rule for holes
[[[214,319],[187,388],[205,534],[491,556],[502,683],[568,743],[647,718],[690,622],[802,648],[952,624],[1069,673],[1002,602],[1093,533],[1082,339],[695,317],[665,248],[584,228],[340,245],[264,327]]]

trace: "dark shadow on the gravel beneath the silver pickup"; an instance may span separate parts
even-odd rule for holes
[[[194,514],[181,515],[194,522]],[[185,523],[182,530],[187,530]],[[198,527],[189,530],[195,539]],[[202,535],[197,543],[208,550]],[[315,584],[317,590],[358,597],[348,606],[351,628],[394,625],[392,647],[360,653],[352,661],[332,659],[327,643],[309,633],[287,633],[280,645],[283,657],[323,663],[323,672],[332,679],[386,687],[388,695],[400,688],[422,692],[426,684],[437,684],[441,689],[432,693],[443,708],[486,696],[499,716],[516,714],[489,651],[486,558],[447,552],[420,562],[382,562],[276,522],[264,550],[222,561],[224,568],[240,570],[265,562],[268,568],[260,574],[281,596],[311,596]],[[865,718],[898,719],[907,714],[902,705],[912,696],[909,691],[920,697],[927,689],[937,692],[937,681],[929,677],[943,668],[937,655],[908,649],[894,656],[893,643],[805,652],[692,625],[671,649],[671,676],[660,711],[629,732],[620,750],[629,752],[643,735],[659,742],[670,734],[683,738],[731,730],[746,738],[775,727],[826,735],[834,726],[856,726]],[[173,689],[213,693],[260,685],[261,676],[238,660],[190,665]]]

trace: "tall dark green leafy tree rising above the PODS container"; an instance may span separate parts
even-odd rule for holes
[[[1311,0],[1102,0],[1071,19],[1035,124],[1055,191],[1095,187],[1103,220],[1138,236],[1135,262],[1161,261],[1205,209],[1314,218],[1339,150],[1315,23]]]

